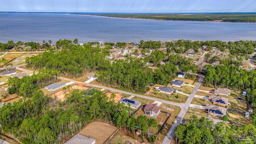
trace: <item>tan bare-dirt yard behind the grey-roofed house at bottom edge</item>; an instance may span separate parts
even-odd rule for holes
[[[103,144],[115,131],[116,127],[101,122],[92,122],[79,134],[96,139],[95,144]]]

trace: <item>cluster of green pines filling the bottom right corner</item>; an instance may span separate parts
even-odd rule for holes
[[[184,125],[178,125],[174,134],[179,144],[253,144],[256,139],[255,125],[243,125],[231,128],[224,122],[218,122],[215,126],[208,118],[200,118],[193,115],[190,121]],[[238,138],[243,138],[238,141]]]

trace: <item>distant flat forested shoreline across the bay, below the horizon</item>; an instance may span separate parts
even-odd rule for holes
[[[86,14],[88,15],[88,14]],[[222,22],[256,22],[255,13],[211,13],[211,14],[89,14],[117,18],[141,18],[154,20],[189,20]]]

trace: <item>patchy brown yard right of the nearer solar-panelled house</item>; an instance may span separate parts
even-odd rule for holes
[[[234,114],[234,115],[236,115],[236,116],[239,116],[238,118],[231,118],[230,116],[229,116],[229,118],[228,118],[228,121],[229,122],[234,122],[234,123],[236,123],[236,124],[241,124],[241,125],[244,125],[244,124],[252,124],[251,122],[250,122],[250,118],[246,118],[244,115],[245,114],[243,114],[243,113],[241,113],[241,112],[235,112],[235,111],[232,111],[232,110],[227,110],[227,113],[228,114]]]

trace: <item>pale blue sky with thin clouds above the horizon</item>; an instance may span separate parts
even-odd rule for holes
[[[256,12],[256,0],[0,0],[2,12]]]

